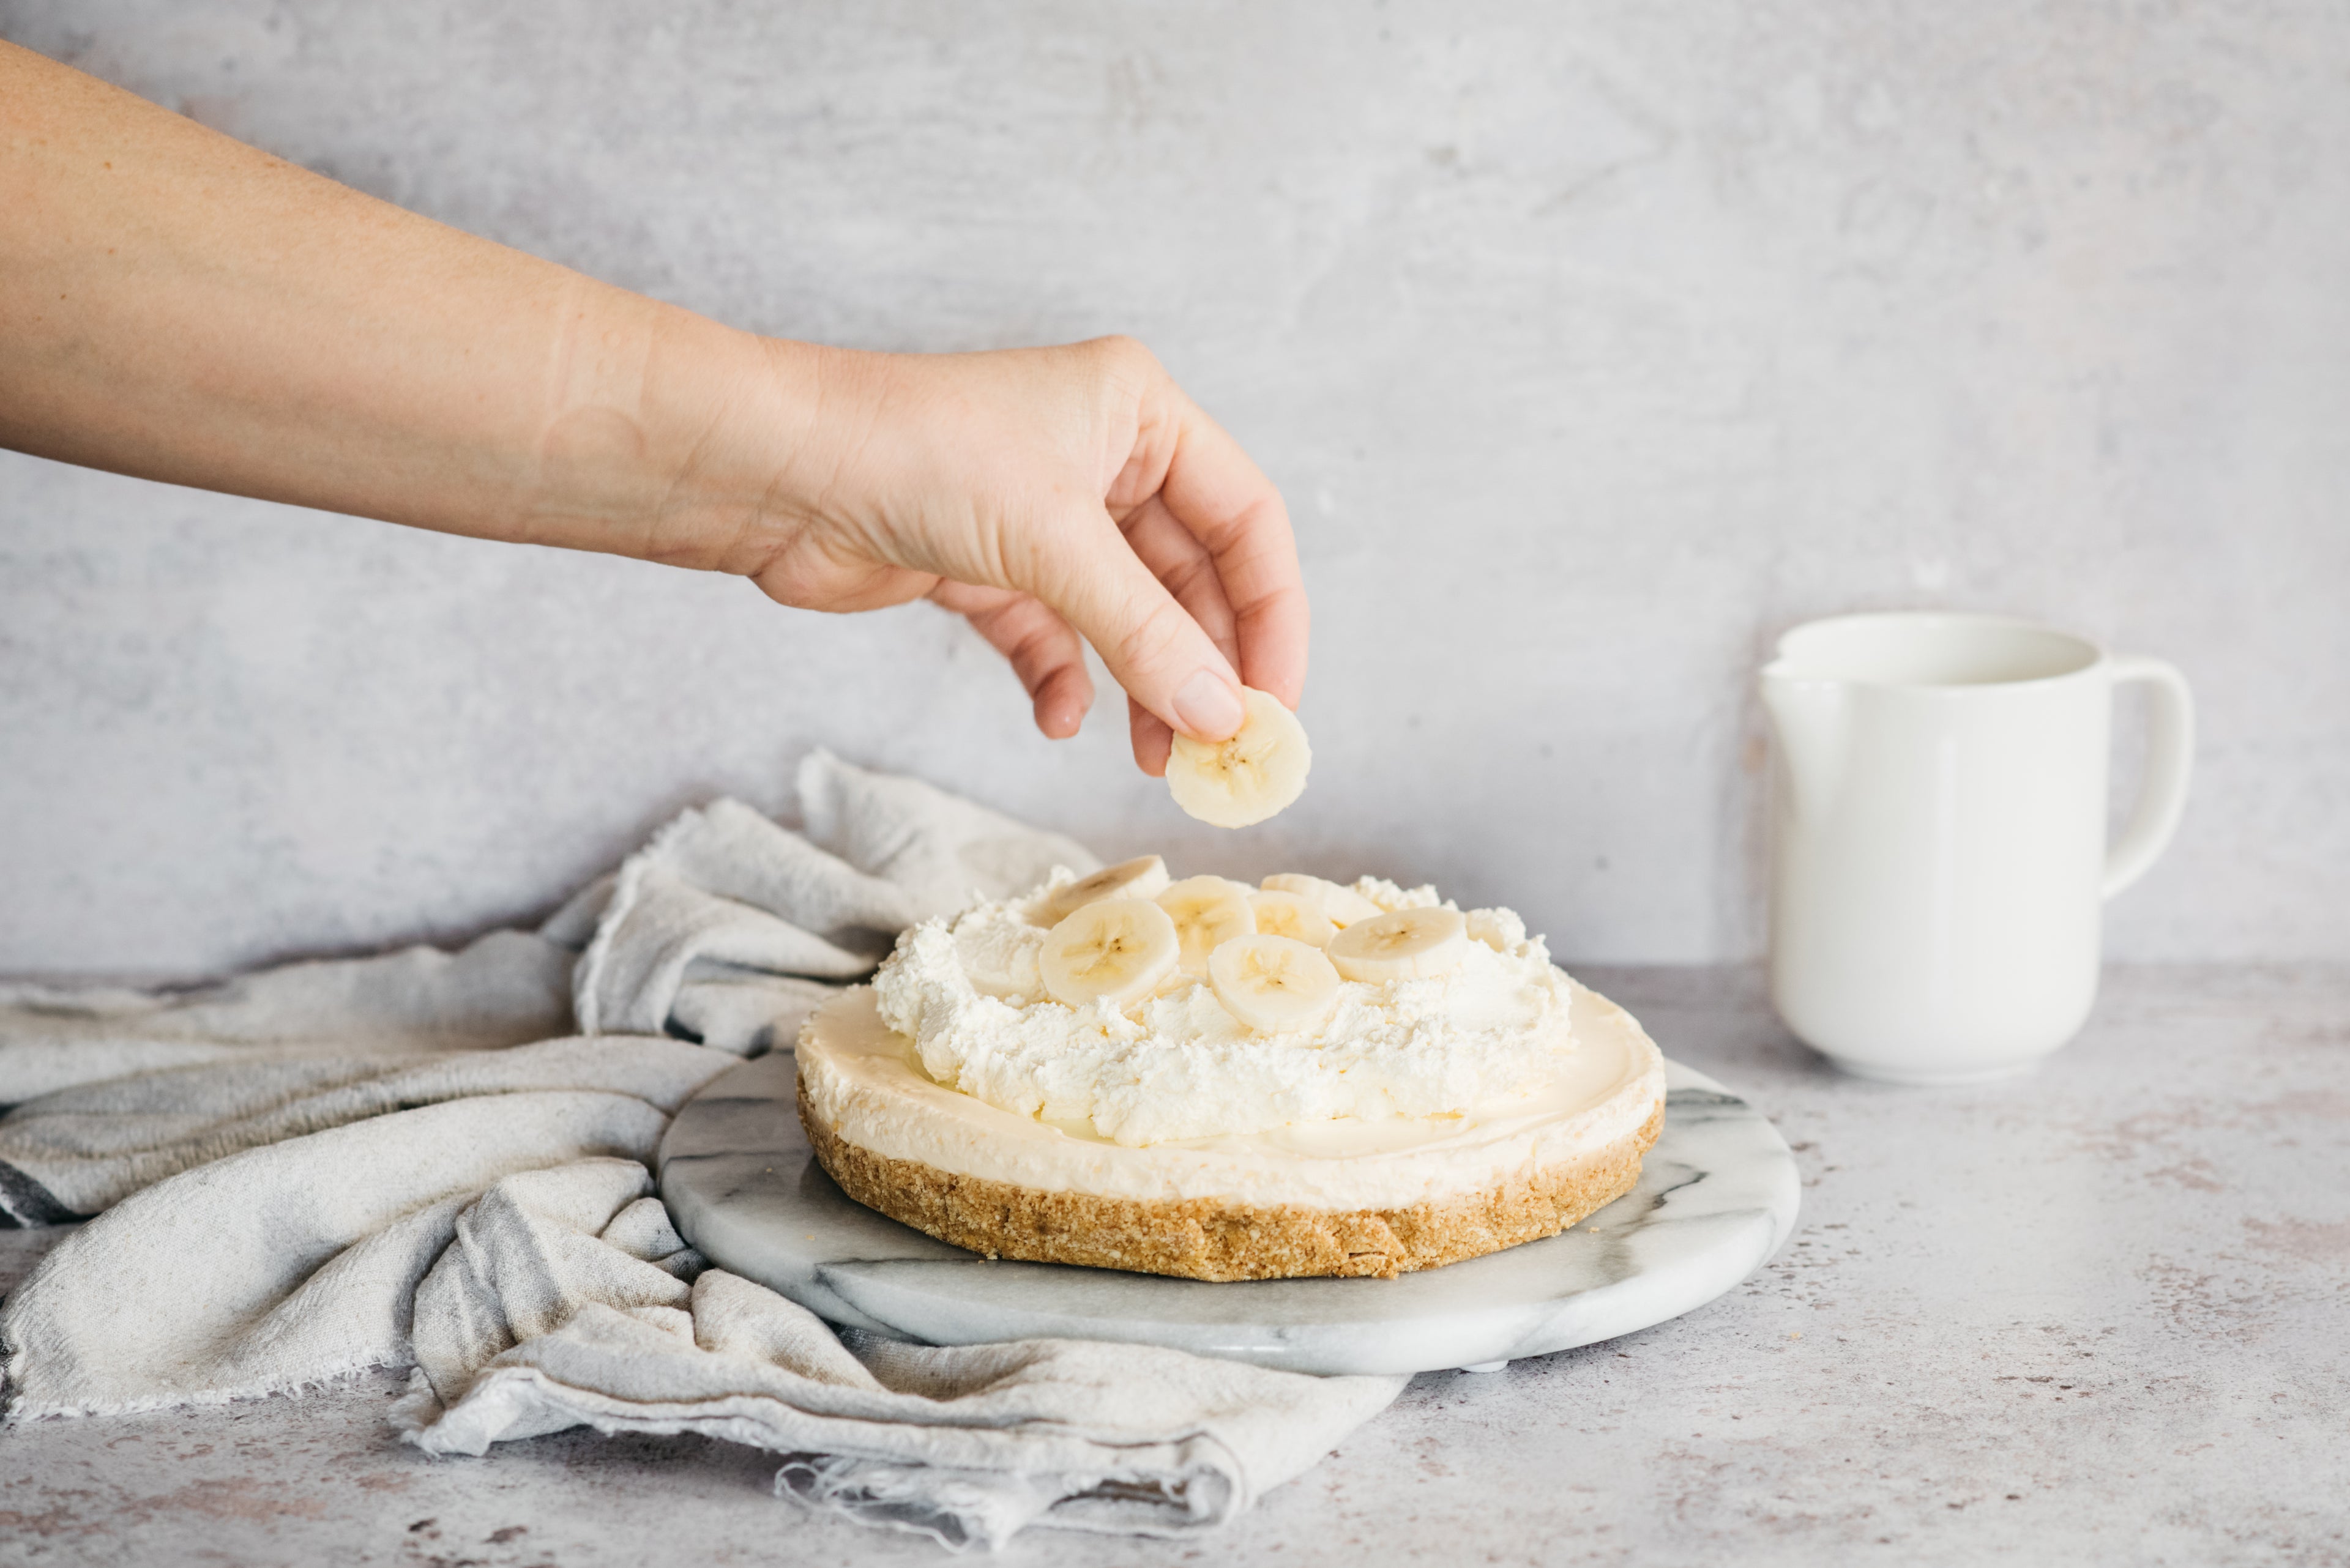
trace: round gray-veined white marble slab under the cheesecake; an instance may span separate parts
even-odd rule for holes
[[[1678,1063],[1666,1086],[1664,1133],[1629,1194],[1558,1237],[1401,1279],[1208,1284],[966,1253],[832,1185],[799,1128],[787,1051],[677,1112],[660,1197],[719,1267],[895,1340],[1126,1340],[1295,1373],[1495,1371],[1701,1307],[1795,1227],[1779,1131]]]

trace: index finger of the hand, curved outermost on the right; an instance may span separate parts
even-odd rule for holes
[[[1241,639],[1241,679],[1297,708],[1311,614],[1290,508],[1222,425],[1182,390],[1170,386],[1168,395],[1177,400],[1175,451],[1159,496],[1215,562]]]

